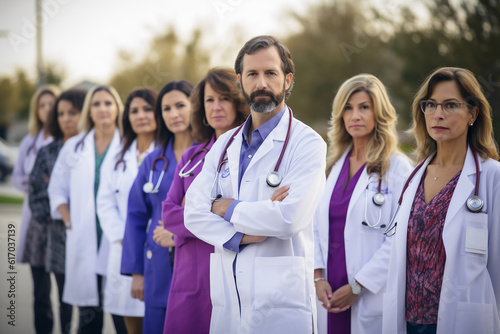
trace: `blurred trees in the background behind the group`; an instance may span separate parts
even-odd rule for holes
[[[437,67],[458,66],[470,69],[481,83],[500,142],[500,1],[387,1],[377,5],[368,0],[324,0],[306,12],[283,15],[279,19],[300,26],[278,36],[290,48],[296,65],[288,104],[299,119],[320,133],[326,130],[338,87],[353,75],[371,73],[382,80],[400,114],[399,128],[404,130],[409,127],[413,95],[425,77]],[[152,38],[142,59],[136,60],[136,50],[120,51],[117,70],[108,84],[125,98],[139,86],[160,90],[171,80],[196,83],[210,66],[218,65],[203,40],[201,28],[181,40],[175,28],[169,27]],[[219,43],[221,47],[242,45],[241,36],[228,36]],[[45,75],[46,82],[60,84],[65,71],[49,63]],[[27,117],[35,85],[23,69],[13,77],[0,78],[0,126],[9,126],[14,117]]]

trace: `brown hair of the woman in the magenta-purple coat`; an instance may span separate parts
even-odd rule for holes
[[[236,110],[236,120],[234,126],[243,123],[250,114],[250,108],[238,88],[238,80],[234,70],[227,67],[215,67],[208,70],[207,75],[201,79],[194,87],[191,93],[191,127],[193,128],[193,137],[198,143],[209,141],[215,130],[206,125],[205,117],[205,86],[210,87],[217,93],[227,96],[231,99]]]

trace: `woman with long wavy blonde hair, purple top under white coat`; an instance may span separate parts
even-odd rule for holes
[[[396,110],[373,75],[342,84],[330,122],[328,178],[314,218],[319,333],[381,333],[384,227],[411,164],[397,150]]]

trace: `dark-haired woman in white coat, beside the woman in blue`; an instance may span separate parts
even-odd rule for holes
[[[97,194],[97,215],[110,242],[104,310],[124,317],[129,334],[141,333],[144,302],[132,298],[132,277],[120,274],[122,243],[127,219],[130,188],[142,160],[155,148],[159,136],[154,106],[158,94],[150,89],[132,91],[123,111],[123,138],[120,153],[102,166]],[[112,297],[112,298],[111,298]]]

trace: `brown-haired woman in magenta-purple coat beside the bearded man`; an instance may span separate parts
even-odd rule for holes
[[[213,68],[191,95],[191,125],[198,145],[186,150],[175,170],[172,187],[162,206],[162,221],[174,234],[175,261],[163,333],[208,333],[210,253],[214,247],[184,226],[184,196],[200,173],[205,155],[217,138],[245,121],[250,110],[230,68]],[[161,244],[159,236],[157,242]],[[196,311],[196,321],[192,312]]]

